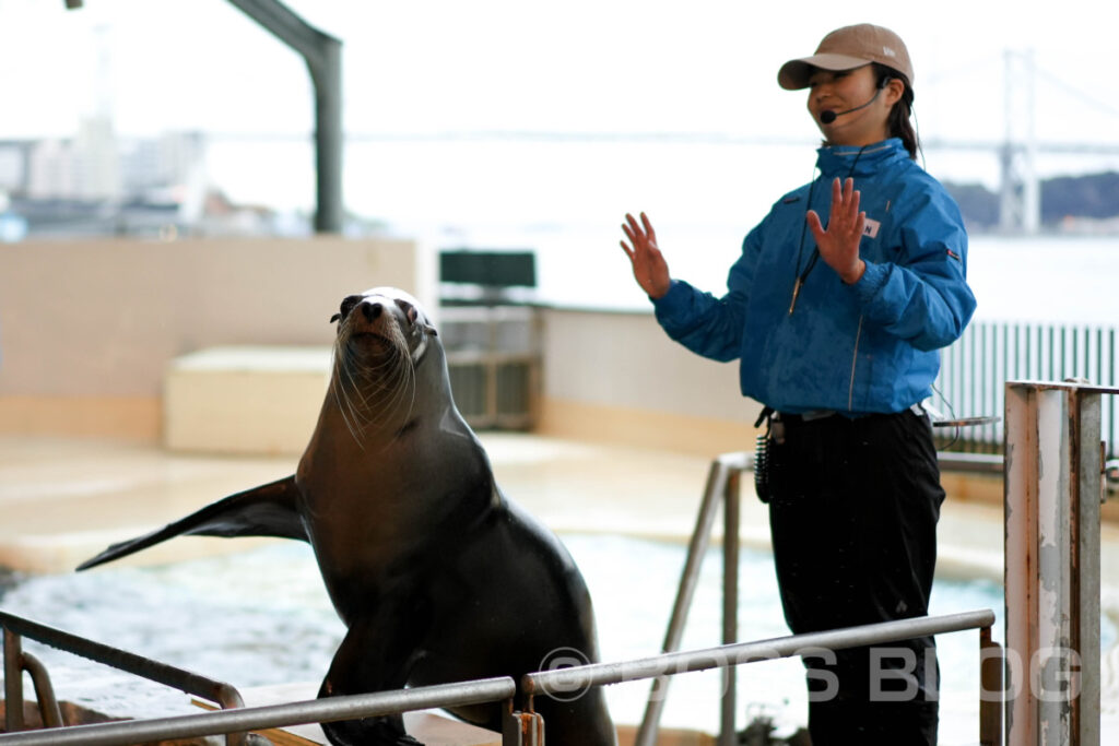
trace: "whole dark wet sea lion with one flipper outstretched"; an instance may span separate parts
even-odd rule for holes
[[[333,368],[295,474],[219,500],[78,569],[175,536],[309,541],[348,632],[320,697],[401,689],[596,660],[591,598],[560,540],[508,500],[451,397],[439,336],[420,303],[375,287],[349,295]],[[453,709],[501,729],[500,702]],[[537,698],[547,739],[609,746],[601,689]],[[331,743],[416,744],[399,717],[325,724]]]

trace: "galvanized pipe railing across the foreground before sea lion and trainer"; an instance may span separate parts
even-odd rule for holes
[[[46,638],[45,642],[66,649],[67,643],[78,641],[78,648],[97,646],[100,643],[62,633],[45,627],[29,620],[11,614],[2,614],[0,622],[4,624],[4,653],[17,653],[10,641],[16,633],[10,627],[30,632],[29,636]],[[172,739],[195,738],[219,734],[247,734],[239,743],[267,744],[263,736],[250,734],[251,730],[279,728],[308,723],[329,723],[356,718],[398,715],[405,711],[429,708],[445,708],[460,705],[507,701],[506,727],[502,733],[504,746],[542,746],[546,724],[533,712],[535,696],[570,696],[590,687],[622,683],[640,679],[675,676],[688,671],[699,671],[711,668],[724,670],[758,661],[774,660],[792,655],[818,655],[826,650],[841,650],[859,645],[896,642],[914,636],[943,634],[963,630],[980,630],[980,665],[985,660],[991,660],[990,627],[995,623],[995,613],[990,610],[948,614],[943,616],[918,617],[868,624],[828,632],[790,635],[772,640],[735,643],[705,650],[666,653],[632,661],[617,663],[592,663],[587,665],[540,671],[526,674],[521,680],[521,689],[527,697],[525,712],[514,710],[516,684],[509,677],[463,681],[458,683],[415,687],[399,691],[376,692],[369,695],[350,695],[329,697],[310,701],[272,705],[269,707],[237,707],[197,715],[181,715],[166,718],[143,720],[123,720],[97,725],[68,726],[44,730],[27,730],[0,735],[3,746],[128,746],[130,744]],[[65,641],[65,642],[64,642]],[[997,645],[995,645],[997,648]],[[998,660],[998,654],[994,657]],[[986,667],[987,670],[1000,671],[999,665]],[[17,677],[21,676],[17,673]],[[191,674],[197,676],[197,674]],[[22,698],[10,699],[12,690],[8,688],[11,673],[6,671],[6,706],[8,711],[20,708]],[[984,690],[994,693],[981,707],[999,707],[1000,678],[985,679]],[[175,686],[175,684],[171,684]],[[724,693],[724,699],[733,698],[733,692]],[[981,698],[982,699],[982,698]],[[986,717],[984,723],[1000,723],[998,717]],[[984,744],[994,744],[994,736],[981,733]],[[233,743],[231,739],[228,743]]]

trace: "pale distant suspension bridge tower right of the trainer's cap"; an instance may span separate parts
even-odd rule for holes
[[[1006,50],[1004,95],[1006,134],[1003,140],[999,187],[999,228],[1004,233],[1035,234],[1041,228],[1041,185],[1034,169],[1034,53]]]

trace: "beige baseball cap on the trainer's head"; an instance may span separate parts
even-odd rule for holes
[[[845,26],[831,31],[811,57],[790,59],[781,66],[777,82],[787,91],[808,87],[814,68],[849,70],[869,63],[892,67],[913,85],[913,64],[902,38],[887,28],[872,23]]]

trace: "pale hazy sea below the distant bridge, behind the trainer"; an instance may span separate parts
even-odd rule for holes
[[[545,303],[642,311],[649,303],[619,246],[627,214],[648,215],[674,276],[721,294],[745,234],[781,195],[816,176],[815,147],[577,133],[358,140],[346,147],[344,192],[348,214],[431,249],[532,249],[535,295]],[[1052,158],[1035,164],[1040,177],[1119,168]],[[998,189],[994,151],[930,149],[920,162],[941,181]],[[234,201],[281,210],[313,204],[313,159],[303,144],[218,140],[207,164],[208,179]],[[975,233],[967,264],[977,320],[1119,323],[1119,234]]]

